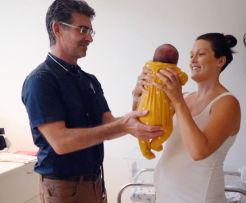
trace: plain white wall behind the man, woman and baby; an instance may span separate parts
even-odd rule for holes
[[[35,149],[27,114],[20,92],[25,76],[44,60],[49,50],[45,13],[51,0],[12,0],[0,2],[0,127],[6,129],[11,150]],[[180,51],[179,66],[189,73],[189,51],[194,39],[205,32],[233,34],[238,39],[234,61],[221,80],[239,99],[242,108],[241,130],[231,149],[225,167],[237,169],[246,165],[246,32],[245,0],[89,0],[95,8],[93,21],[96,35],[82,68],[94,73],[102,83],[112,112],[116,115],[131,109],[131,90],[143,64],[154,49],[172,43]],[[185,91],[192,91],[189,82]],[[131,136],[106,142],[106,183],[110,203],[116,201],[121,185],[129,178],[131,153],[138,151]],[[126,159],[125,157],[128,157]],[[141,156],[138,157],[142,162]],[[153,162],[154,164],[155,162]]]

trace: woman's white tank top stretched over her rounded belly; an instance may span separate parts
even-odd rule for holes
[[[207,123],[211,106],[193,117],[200,129]],[[225,203],[223,162],[236,136],[230,136],[213,154],[204,160],[194,161],[186,150],[178,131],[176,116],[174,129],[166,142],[154,174],[157,203]]]

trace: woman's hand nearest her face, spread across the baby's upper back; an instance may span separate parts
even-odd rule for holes
[[[169,99],[172,101],[174,108],[178,103],[184,101],[182,86],[175,70],[172,70],[171,68],[163,68],[156,75],[163,81],[163,84],[160,85],[154,82],[154,85],[167,94]]]

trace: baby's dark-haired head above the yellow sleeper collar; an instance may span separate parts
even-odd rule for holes
[[[178,50],[171,44],[163,44],[155,50],[153,61],[177,64],[179,59]]]

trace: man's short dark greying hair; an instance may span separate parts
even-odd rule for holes
[[[56,43],[52,24],[59,21],[71,23],[73,13],[83,14],[91,19],[95,16],[94,9],[83,0],[55,0],[50,5],[46,13],[46,28],[50,39],[50,46]]]

